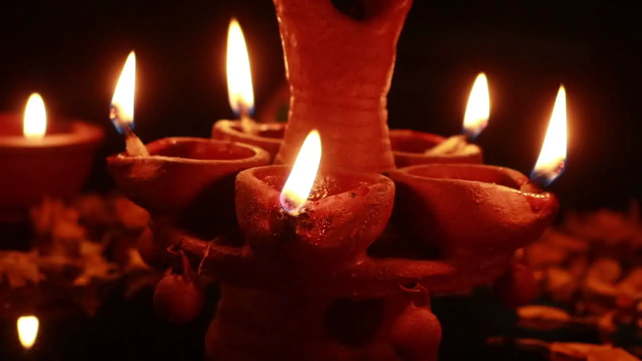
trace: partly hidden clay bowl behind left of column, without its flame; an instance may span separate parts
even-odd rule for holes
[[[241,121],[222,119],[214,123],[212,138],[258,146],[270,154],[270,163],[279,152],[286,123],[257,123],[258,134],[243,131]]]

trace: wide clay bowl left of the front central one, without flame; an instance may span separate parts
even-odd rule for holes
[[[236,173],[270,161],[256,146],[196,137],[159,139],[146,148],[150,157],[123,152],[108,157],[107,165],[126,197],[152,215],[180,213],[195,203],[233,206]]]

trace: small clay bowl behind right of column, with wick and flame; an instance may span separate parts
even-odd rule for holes
[[[444,138],[415,130],[390,130],[397,168],[433,163],[482,163],[482,149],[474,139],[488,125],[490,96],[484,73],[477,76],[464,114],[464,134]]]

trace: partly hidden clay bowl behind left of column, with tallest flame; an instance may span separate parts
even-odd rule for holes
[[[257,123],[250,118],[254,110],[252,72],[243,30],[236,19],[227,34],[227,92],[237,120],[221,119],[212,128],[213,139],[236,141],[267,150],[272,159],[279,151],[284,123]]]

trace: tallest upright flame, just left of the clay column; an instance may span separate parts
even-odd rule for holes
[[[227,32],[227,93],[230,107],[237,116],[248,116],[254,111],[254,91],[250,57],[243,30],[232,18]]]

